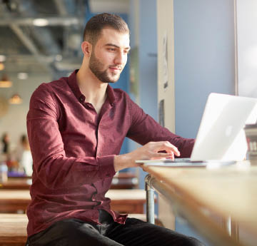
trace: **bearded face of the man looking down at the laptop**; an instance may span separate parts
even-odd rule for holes
[[[89,68],[99,81],[115,83],[126,65],[129,49],[129,34],[103,29],[92,48]]]

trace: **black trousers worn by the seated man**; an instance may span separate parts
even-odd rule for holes
[[[101,225],[77,219],[61,220],[29,237],[29,246],[203,246],[193,237],[135,218],[114,222],[101,210]]]

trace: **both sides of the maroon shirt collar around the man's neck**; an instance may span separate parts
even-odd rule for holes
[[[84,102],[86,97],[81,93],[78,82],[76,80],[76,73],[78,73],[78,71],[79,69],[76,69],[73,73],[71,73],[71,75],[68,77],[67,82],[71,90],[74,92],[74,95],[76,96],[76,98],[78,98],[79,101]],[[106,92],[107,92],[107,97],[109,99],[109,102],[112,105],[115,101],[114,88],[112,88],[108,84]]]

